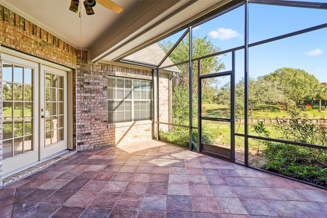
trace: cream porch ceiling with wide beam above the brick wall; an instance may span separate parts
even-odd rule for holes
[[[86,15],[80,2],[81,16],[68,10],[71,0],[0,0],[75,48],[88,50],[91,62],[114,61],[151,45],[231,0],[112,0],[123,8],[120,14],[97,4],[94,15]]]

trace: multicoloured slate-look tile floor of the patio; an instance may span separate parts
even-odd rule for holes
[[[327,190],[154,140],[77,152],[0,189],[0,217],[327,217]]]

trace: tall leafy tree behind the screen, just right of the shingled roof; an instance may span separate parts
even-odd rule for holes
[[[181,42],[178,44],[178,46],[174,49],[174,51],[170,54],[169,58],[174,63],[180,63],[182,61],[189,59],[189,40],[188,35],[184,39],[181,40]],[[209,54],[214,54],[220,51],[220,49],[213,45],[213,43],[207,39],[207,37],[200,38],[199,35],[193,36],[193,57],[202,57]],[[159,47],[167,54],[170,49],[174,46],[174,42],[167,41],[163,43],[159,43]],[[209,58],[202,59],[200,61],[200,71],[201,74],[209,74],[218,72],[221,69],[224,69],[225,66],[223,63],[219,62],[219,56],[213,56]],[[173,96],[172,99],[179,99],[178,101],[173,100],[172,101],[172,107],[173,107],[173,114],[172,119],[173,122],[176,124],[185,124],[185,120],[188,120],[189,113],[185,113],[185,110],[187,111],[189,108],[189,78],[190,78],[190,70],[189,70],[189,64],[179,64],[178,69],[180,70],[180,73],[178,73],[176,76],[172,78],[172,90],[173,90]],[[192,64],[193,72],[193,117],[197,118],[197,96],[198,96],[198,75],[197,75],[197,62],[194,62]],[[213,85],[216,82],[215,78],[212,79],[205,79],[202,80],[202,95],[203,91],[207,89],[209,86]],[[178,95],[178,96],[177,96]],[[203,97],[203,96],[202,96]],[[182,103],[183,102],[183,103]],[[187,104],[184,105],[184,104]],[[184,105],[184,106],[181,106]],[[186,106],[186,107],[185,107]],[[183,118],[180,116],[183,115]],[[195,119],[197,121],[197,119]]]

